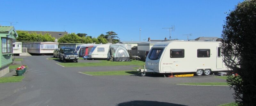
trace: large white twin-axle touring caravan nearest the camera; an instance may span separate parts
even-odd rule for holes
[[[228,70],[222,62],[221,42],[169,41],[156,43],[141,72],[186,73],[210,75]]]

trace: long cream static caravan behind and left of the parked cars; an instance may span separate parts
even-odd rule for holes
[[[55,49],[58,49],[58,45],[59,43],[56,42],[35,42],[23,43],[22,47],[26,47],[28,49],[28,53],[52,54]]]

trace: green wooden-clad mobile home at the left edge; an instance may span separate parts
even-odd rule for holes
[[[0,26],[0,77],[9,73],[9,65],[12,63],[12,42],[18,36],[13,26]]]

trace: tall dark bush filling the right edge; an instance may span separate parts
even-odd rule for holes
[[[228,13],[221,35],[223,61],[232,69],[227,82],[240,106],[256,106],[255,26],[256,0],[245,0]]]

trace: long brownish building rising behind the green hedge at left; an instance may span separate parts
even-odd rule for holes
[[[37,34],[50,34],[52,35],[52,37],[55,37],[56,39],[59,39],[60,37],[64,36],[64,35],[68,35],[68,32],[55,32],[55,31],[29,31],[29,30],[23,30],[23,31],[27,31],[28,33],[37,33]]]

